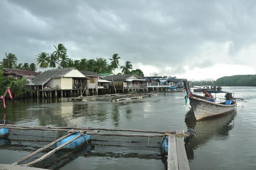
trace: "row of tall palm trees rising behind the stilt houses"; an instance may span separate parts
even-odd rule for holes
[[[123,66],[119,64],[120,57],[117,53],[112,55],[112,58],[108,58],[110,63],[107,62],[105,58],[96,58],[86,59],[82,58],[80,60],[72,60],[69,58],[67,49],[63,44],[54,45],[54,51],[51,54],[46,52],[40,52],[36,55],[36,61],[39,68],[70,68],[75,67],[78,70],[87,70],[96,73],[113,73],[115,74],[115,69],[120,68],[122,73],[118,74],[138,74],[139,76],[144,76],[142,70],[135,69],[132,70],[132,63],[126,61]],[[6,58],[0,62],[1,68],[14,68],[14,69],[23,69],[23,70],[33,70],[36,71],[36,64],[31,63],[20,63],[17,64],[17,57],[15,54],[9,53],[6,54]]]

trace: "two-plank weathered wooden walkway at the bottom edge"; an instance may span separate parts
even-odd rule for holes
[[[176,134],[180,133],[176,131]],[[168,170],[190,170],[183,137],[168,135],[167,167]]]

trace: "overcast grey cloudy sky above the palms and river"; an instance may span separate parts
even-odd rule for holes
[[[76,60],[118,53],[120,66],[131,61],[145,76],[216,80],[256,74],[256,3],[0,1],[0,60],[6,52],[18,63],[36,63],[38,53],[50,54],[59,43]]]

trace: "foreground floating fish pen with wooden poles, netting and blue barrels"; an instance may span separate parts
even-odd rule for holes
[[[1,136],[4,138],[0,139],[0,145],[8,147],[17,141],[28,143],[24,150],[30,154],[14,162],[13,166],[47,169],[65,164],[65,159],[86,154],[123,154],[125,158],[136,154],[138,158],[161,159],[164,163],[162,168],[168,170],[172,167],[175,170],[188,170],[184,142],[189,141],[194,134],[191,129],[184,133],[172,130],[31,127],[12,124],[0,124],[0,129],[8,130],[7,136]]]

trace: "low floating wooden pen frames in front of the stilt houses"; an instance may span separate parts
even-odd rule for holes
[[[110,102],[118,102],[120,100],[131,100],[140,99],[145,97],[158,96],[158,94],[106,94],[101,96],[79,96],[71,98],[59,98],[59,100],[82,100],[82,101],[92,101],[92,100],[102,100]]]

